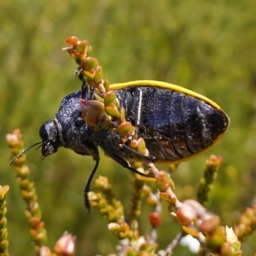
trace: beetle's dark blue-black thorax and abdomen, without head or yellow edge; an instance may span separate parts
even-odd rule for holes
[[[120,106],[125,108],[126,119],[137,127],[139,137],[144,138],[149,154],[156,160],[175,162],[199,154],[211,147],[228,125],[222,110],[175,90],[134,86],[115,92]],[[83,121],[77,124],[81,117],[80,96],[80,90],[66,96],[56,113],[60,146],[94,158],[100,146],[114,160],[115,156],[132,159],[131,152],[120,148],[117,132],[95,132]],[[93,99],[93,91],[85,98]]]

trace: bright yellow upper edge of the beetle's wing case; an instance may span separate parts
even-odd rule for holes
[[[121,90],[121,89],[125,89],[125,88],[131,87],[131,86],[151,86],[151,87],[157,87],[157,88],[166,89],[166,90],[176,90],[176,91],[182,92],[184,94],[187,94],[189,96],[198,98],[202,101],[205,101],[205,102],[209,103],[210,105],[212,105],[212,107],[214,107],[214,108],[221,109],[218,106],[218,104],[216,104],[215,102],[212,102],[207,97],[202,96],[193,90],[188,90],[186,88],[183,88],[183,87],[175,85],[175,84],[168,84],[168,83],[160,82],[160,81],[137,80],[137,81],[131,81],[131,82],[127,82],[127,83],[110,84],[109,88],[111,90]]]

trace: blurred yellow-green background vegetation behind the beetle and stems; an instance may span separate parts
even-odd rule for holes
[[[195,188],[210,154],[223,157],[208,209],[222,224],[236,224],[245,207],[256,202],[256,4],[245,1],[59,1],[0,2],[0,184],[9,184],[8,229],[11,255],[34,255],[15,174],[9,167],[5,134],[19,127],[26,146],[40,141],[39,127],[53,119],[61,99],[80,82],[77,67],[61,51],[70,36],[88,39],[111,83],[154,79],[182,85],[211,98],[230,116],[223,140],[195,160],[178,166],[172,176],[177,196],[195,198]],[[94,163],[67,149],[44,161],[34,148],[27,152],[36,184],[49,246],[62,232],[77,236],[76,255],[108,255],[117,239],[92,210],[86,214],[83,186]],[[162,167],[162,166],[161,166]],[[131,173],[102,155],[99,172],[113,183],[129,211]],[[125,188],[125,189],[124,189]],[[164,209],[165,211],[166,209]],[[167,212],[167,211],[166,211]],[[163,213],[160,248],[178,231]],[[143,212],[143,218],[148,212]],[[142,219],[143,219],[142,218]],[[146,218],[147,219],[147,218]],[[143,221],[143,234],[149,225]],[[243,252],[256,251],[256,236]],[[178,247],[174,255],[191,255]]]

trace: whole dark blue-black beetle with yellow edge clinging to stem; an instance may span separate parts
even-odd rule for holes
[[[141,80],[112,84],[110,89],[115,90],[120,108],[125,108],[125,118],[136,127],[138,137],[143,137],[155,161],[178,163],[189,160],[218,143],[229,125],[228,116],[218,104],[174,84]],[[42,142],[34,144],[42,147],[42,157],[64,147],[77,154],[91,155],[96,160],[84,186],[88,208],[87,193],[99,165],[99,147],[121,166],[146,176],[129,165],[128,160],[134,160],[134,152],[129,147],[122,147],[122,137],[116,131],[94,131],[84,123],[79,99],[94,100],[94,93],[84,81],[81,90],[66,96],[55,119],[41,126]]]

